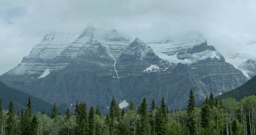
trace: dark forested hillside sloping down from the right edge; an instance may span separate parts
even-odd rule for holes
[[[234,98],[237,101],[243,99],[246,96],[256,95],[256,76],[244,83],[244,85],[222,95],[216,97],[217,99]]]

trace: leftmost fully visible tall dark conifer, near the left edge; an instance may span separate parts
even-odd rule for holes
[[[7,114],[8,118],[6,121],[6,131],[7,131],[7,135],[14,135],[15,134],[15,121],[14,121],[14,106],[13,106],[13,102],[12,100],[9,103],[9,111]]]

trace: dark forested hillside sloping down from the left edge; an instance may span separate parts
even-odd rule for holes
[[[34,112],[51,111],[52,105],[50,103],[28,95],[22,91],[7,87],[4,83],[0,82],[0,99],[4,110],[8,110],[8,103],[10,100],[14,103],[15,112],[20,111],[21,107],[25,109],[28,103],[28,97],[32,100],[32,109]]]

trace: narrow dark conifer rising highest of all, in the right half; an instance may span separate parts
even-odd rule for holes
[[[194,93],[192,90],[190,90],[190,94],[189,94],[189,99],[188,99],[188,109],[187,109],[187,113],[188,113],[188,122],[186,124],[187,128],[188,128],[188,135],[195,135],[196,134],[196,123],[194,120],[194,107],[196,107],[196,101],[194,98]]]

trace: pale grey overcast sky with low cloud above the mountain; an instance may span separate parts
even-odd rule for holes
[[[256,0],[0,0],[0,75],[20,63],[48,32],[88,24],[152,40],[201,32],[224,56],[256,54]],[[254,44],[256,45],[256,44]]]

